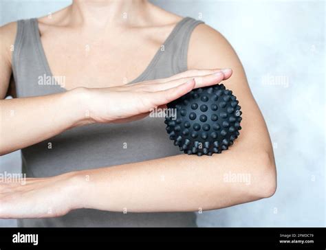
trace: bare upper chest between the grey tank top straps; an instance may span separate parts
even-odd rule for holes
[[[87,36],[62,32],[41,36],[52,76],[65,78],[65,89],[113,87],[138,78],[160,49],[162,38],[146,32]]]

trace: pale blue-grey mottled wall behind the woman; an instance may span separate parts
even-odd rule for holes
[[[219,30],[235,47],[272,137],[272,198],[198,214],[202,227],[325,227],[324,1],[152,1]],[[0,0],[0,25],[43,16],[70,1]],[[0,157],[19,172],[20,152]],[[0,220],[0,226],[16,226]]]

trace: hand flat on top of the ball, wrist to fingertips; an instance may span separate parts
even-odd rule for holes
[[[87,97],[85,115],[91,122],[139,120],[146,117],[151,109],[165,106],[192,89],[217,84],[230,78],[231,74],[230,69],[195,69],[159,80],[84,89]]]

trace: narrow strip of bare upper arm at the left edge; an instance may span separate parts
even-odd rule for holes
[[[6,98],[10,76],[12,74],[12,52],[14,38],[17,32],[17,22],[0,27],[0,99]]]

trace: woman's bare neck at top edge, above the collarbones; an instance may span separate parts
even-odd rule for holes
[[[71,22],[98,27],[141,25],[148,5],[146,0],[74,0]]]

